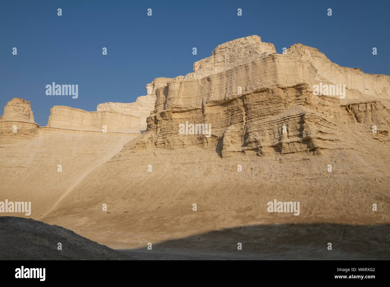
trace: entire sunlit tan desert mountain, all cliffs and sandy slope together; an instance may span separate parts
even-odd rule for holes
[[[347,246],[363,254],[365,242],[374,251],[364,258],[388,256],[389,76],[340,67],[301,44],[277,54],[258,36],[219,45],[193,70],[154,79],[135,103],[103,103],[95,112],[53,107],[40,129],[13,99],[0,125],[11,137],[15,123],[39,133],[4,143],[0,129],[0,194],[31,201],[32,218],[115,248],[181,238],[160,246],[225,252],[244,242],[258,258],[264,238],[288,237],[294,250],[306,240],[295,257],[324,258],[318,250],[331,234],[340,252],[332,258]],[[300,202],[300,215],[269,213],[275,199]],[[209,233],[226,228],[237,237]]]

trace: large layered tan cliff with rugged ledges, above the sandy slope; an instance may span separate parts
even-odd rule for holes
[[[363,134],[375,125],[389,144],[390,77],[340,67],[301,44],[277,54],[258,36],[237,39],[196,62],[194,73],[165,81],[155,91],[148,134],[135,147],[199,146],[221,156],[319,153],[353,147],[347,130],[356,123]],[[315,85],[330,88],[318,93]],[[211,125],[211,137],[181,134],[186,122]]]

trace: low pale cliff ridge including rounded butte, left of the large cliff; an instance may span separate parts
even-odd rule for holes
[[[97,111],[87,112],[66,106],[50,109],[45,128],[61,128],[78,131],[140,133],[146,130],[146,118],[154,107],[156,97],[153,88],[147,96],[140,96],[135,103],[103,103]],[[13,98],[0,116],[0,143],[16,143],[19,139],[32,139],[41,128],[34,122],[30,102]]]

